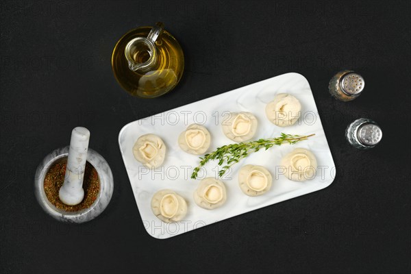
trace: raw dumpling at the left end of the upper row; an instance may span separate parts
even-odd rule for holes
[[[155,169],[164,162],[166,145],[157,135],[145,134],[137,139],[133,154],[138,162]]]

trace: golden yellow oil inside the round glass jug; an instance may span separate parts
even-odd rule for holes
[[[184,71],[184,55],[175,38],[164,30],[155,42],[158,58],[148,71],[132,71],[125,58],[125,46],[137,37],[147,37],[152,27],[138,27],[125,34],[117,42],[112,53],[112,69],[120,86],[131,95],[154,98],[172,90],[179,82]],[[134,56],[138,62],[149,58],[147,51]]]

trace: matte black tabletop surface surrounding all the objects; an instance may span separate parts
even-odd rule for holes
[[[1,273],[410,272],[410,2],[2,1]],[[129,29],[162,21],[185,54],[182,81],[130,97],[110,57]],[[329,79],[353,69],[364,94],[343,103]],[[288,72],[310,82],[337,176],[319,192],[171,238],[151,238],[117,142],[126,123]],[[371,118],[382,142],[345,140]],[[115,179],[108,208],[83,225],[34,197],[47,153],[88,127]]]

